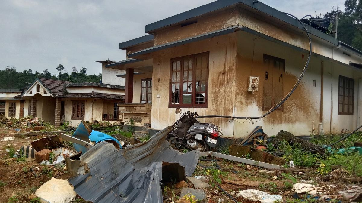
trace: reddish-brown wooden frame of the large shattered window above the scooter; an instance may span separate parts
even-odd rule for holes
[[[196,71],[197,71],[197,67],[196,67],[196,57],[197,56],[202,56],[202,55],[206,55],[206,60],[207,60],[207,64],[206,64],[206,75],[205,75],[205,91],[203,92],[196,92]],[[192,90],[191,92],[186,92],[185,94],[191,94],[191,104],[183,104],[183,83],[184,82],[189,82],[188,81],[184,81],[184,59],[189,59],[189,58],[193,58],[193,67],[192,67]],[[202,52],[202,53],[197,53],[197,54],[192,54],[192,55],[187,55],[187,56],[182,56],[182,57],[176,57],[173,59],[170,59],[170,77],[169,77],[169,102],[168,102],[168,107],[169,108],[177,108],[177,107],[181,107],[181,108],[207,108],[207,101],[209,98],[208,95],[208,88],[209,88],[209,60],[210,60],[210,52]],[[173,72],[178,72],[177,69],[176,71],[172,70],[172,62],[174,61],[181,61],[181,67],[180,67],[180,81],[179,82],[172,82],[172,73]],[[190,70],[190,68],[188,69]],[[179,92],[179,104],[172,104],[172,84],[173,83],[180,83],[180,92]],[[203,94],[205,93],[205,104],[196,104],[196,94]]]

